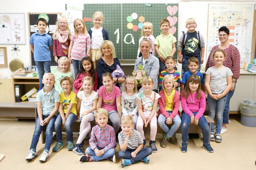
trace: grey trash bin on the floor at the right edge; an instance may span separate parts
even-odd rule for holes
[[[241,124],[256,127],[256,100],[242,100],[240,104]]]

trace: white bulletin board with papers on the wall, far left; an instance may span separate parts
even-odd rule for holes
[[[0,44],[26,44],[24,13],[0,13]]]

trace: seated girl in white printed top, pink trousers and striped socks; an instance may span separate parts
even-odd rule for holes
[[[140,132],[143,145],[146,144],[143,124],[147,127],[150,124],[150,141],[149,146],[152,152],[157,152],[156,147],[156,134],[157,134],[157,102],[160,95],[154,91],[153,79],[151,77],[145,77],[142,81],[143,91],[139,92],[136,97],[138,98],[138,110],[139,116],[137,120],[137,131]]]

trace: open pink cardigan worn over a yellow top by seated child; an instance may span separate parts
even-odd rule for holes
[[[164,95],[164,91],[161,90],[159,92],[159,95],[161,96],[158,99],[158,104],[159,104],[159,110],[158,110],[158,115],[162,114],[163,116],[167,117],[171,117],[172,119],[179,114],[180,116],[180,93],[175,90],[174,96],[172,98],[172,113],[169,116],[169,114],[167,113],[167,111],[165,110],[165,95]]]

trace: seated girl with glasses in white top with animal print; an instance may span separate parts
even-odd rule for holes
[[[126,115],[131,116],[133,118],[134,129],[136,130],[138,103],[135,95],[138,94],[138,90],[136,88],[135,78],[127,76],[124,88],[125,92],[121,94],[122,117]]]

